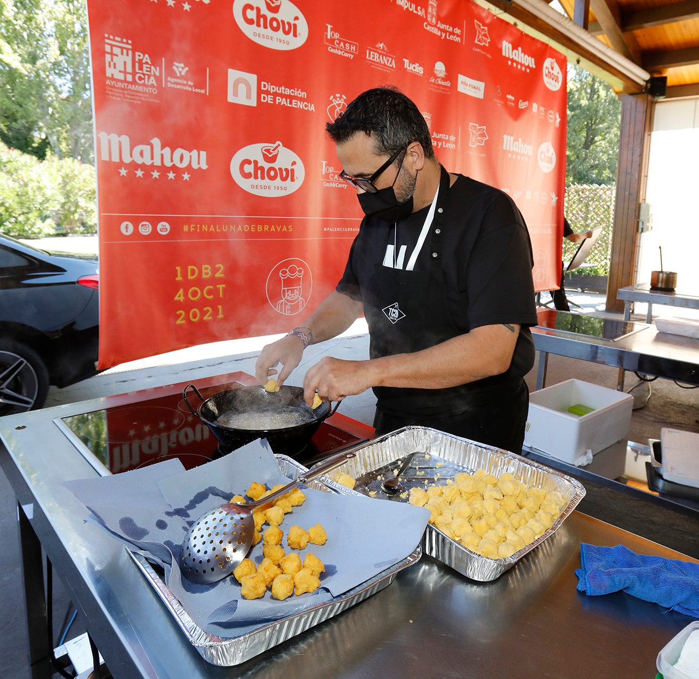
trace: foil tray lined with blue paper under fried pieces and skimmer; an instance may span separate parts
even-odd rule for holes
[[[304,466],[286,455],[275,455],[275,458],[279,463],[280,471],[288,478],[296,478],[299,474],[308,471]],[[323,492],[337,492],[336,489],[330,488],[326,483],[318,479],[310,481],[308,487]],[[419,561],[422,555],[422,548],[418,545],[415,551],[407,558],[382,571],[374,578],[362,582],[361,585],[349,589],[348,592],[336,596],[331,601],[312,606],[301,613],[284,617],[281,620],[266,624],[263,627],[259,627],[259,629],[234,638],[215,636],[201,629],[192,620],[189,613],[182,608],[180,601],[168,589],[152,564],[138,552],[133,552],[129,548],[127,548],[127,552],[154,587],[165,603],[166,608],[175,617],[180,628],[189,639],[189,643],[196,648],[199,655],[214,665],[232,666],[250,660],[273,646],[287,641],[292,636],[301,634],[301,632],[306,631],[310,627],[328,620],[333,615],[342,613],[343,610],[354,606],[355,603],[368,599],[372,594],[380,592],[394,581],[399,571]]]

